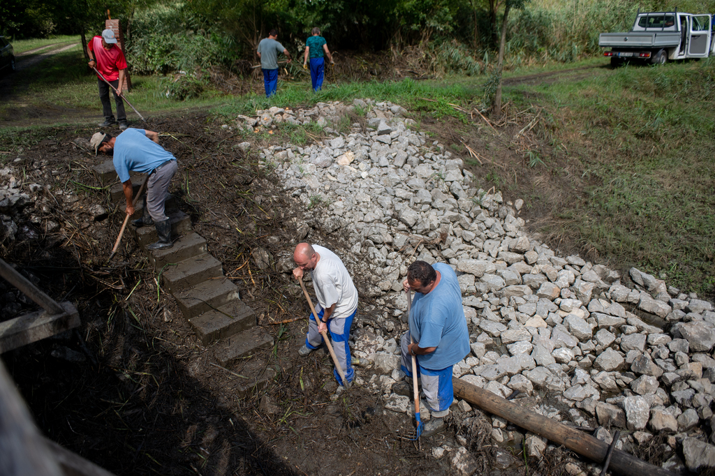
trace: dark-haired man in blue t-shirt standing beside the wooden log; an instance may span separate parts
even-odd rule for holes
[[[403,287],[405,292],[414,290],[415,299],[410,310],[410,330],[400,340],[402,370],[414,378],[412,356],[417,357],[416,377],[422,382],[432,412],[422,435],[429,436],[443,430],[444,417],[454,400],[452,367],[469,353],[467,319],[457,274],[448,264],[430,266],[415,261],[407,270]],[[414,344],[410,344],[410,332]],[[400,385],[404,387],[405,382],[397,384]]]

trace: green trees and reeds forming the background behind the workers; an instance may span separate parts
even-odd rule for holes
[[[255,61],[272,28],[297,56],[318,26],[332,49],[417,47],[435,70],[482,74],[493,66],[507,2],[514,0],[5,0],[0,34],[91,37],[109,9],[122,20],[134,72],[166,73]],[[715,0],[526,1],[508,18],[506,65],[597,54],[598,34],[629,29],[638,9],[715,13]]]

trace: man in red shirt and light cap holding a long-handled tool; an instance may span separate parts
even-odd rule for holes
[[[124,53],[117,46],[117,39],[114,38],[114,31],[106,29],[102,31],[102,36],[94,36],[89,45],[89,67],[97,68],[104,77],[114,86],[117,91],[122,91],[124,86],[124,70],[127,69],[127,59]],[[112,103],[109,102],[109,85],[104,82],[99,74],[97,75],[99,84],[99,99],[102,101],[102,111],[104,122],[99,127],[109,127],[119,121],[119,129],[127,129],[127,113],[124,111],[124,101],[114,94],[114,103],[117,104],[117,120],[112,114]]]

